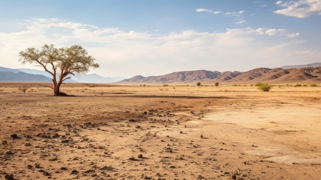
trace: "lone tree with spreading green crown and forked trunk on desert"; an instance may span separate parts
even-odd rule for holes
[[[41,50],[28,48],[19,52],[19,61],[22,64],[35,63],[35,66],[41,66],[46,72],[52,75],[55,96],[66,95],[60,92],[62,83],[69,79],[71,75],[85,74],[89,68],[98,68],[99,65],[94,63],[94,58],[87,55],[87,51],[79,46],[74,45],[66,48],[54,48],[54,45],[44,45]]]

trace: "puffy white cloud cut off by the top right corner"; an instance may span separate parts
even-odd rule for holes
[[[321,0],[278,1],[275,3],[284,9],[274,11],[276,14],[305,18],[321,15]]]

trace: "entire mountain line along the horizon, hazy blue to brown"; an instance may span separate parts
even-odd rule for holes
[[[52,82],[50,74],[33,69],[10,69],[0,67],[0,82]],[[255,84],[268,83],[321,83],[321,63],[283,66],[280,68],[256,68],[246,72],[239,71],[180,71],[159,76],[144,77],[136,75],[122,77],[102,77],[97,74],[71,76],[68,82],[113,83],[119,85],[138,84]],[[122,80],[122,81],[121,81]]]

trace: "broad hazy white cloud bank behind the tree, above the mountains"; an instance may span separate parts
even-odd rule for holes
[[[25,30],[0,32],[1,66],[22,67],[17,62],[18,52],[29,47],[41,48],[44,44],[54,44],[58,48],[79,44],[101,65],[94,73],[123,77],[197,69],[220,71],[225,67],[238,71],[262,66],[276,67],[262,62],[269,62],[270,59],[279,62],[292,60],[298,57],[293,53],[291,58],[285,58],[286,52],[302,49],[298,47],[300,42],[292,41],[293,38],[288,35],[295,36],[296,33],[286,29],[247,27],[226,29],[224,32],[186,30],[155,35],[53,18],[31,19],[21,26]],[[315,62],[319,56],[309,59]],[[25,65],[24,68],[35,67]]]

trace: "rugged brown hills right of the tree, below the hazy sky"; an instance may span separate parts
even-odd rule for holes
[[[306,68],[256,68],[246,72],[239,71],[180,71],[160,76],[134,76],[114,84],[254,84],[268,83],[321,83],[321,67]]]

